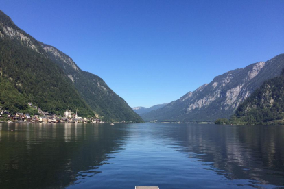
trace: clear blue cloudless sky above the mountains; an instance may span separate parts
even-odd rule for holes
[[[0,9],[132,107],[174,101],[284,53],[283,0],[1,0]]]

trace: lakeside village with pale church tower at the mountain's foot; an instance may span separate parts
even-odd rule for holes
[[[29,115],[21,112],[12,114],[8,110],[3,110],[0,107],[0,122],[32,122],[32,123],[104,123],[99,118],[82,118],[78,116],[77,111],[75,113],[70,110],[66,110],[64,115],[51,114],[44,112],[41,108],[36,107],[32,103],[28,103],[29,107],[38,110],[38,115]]]

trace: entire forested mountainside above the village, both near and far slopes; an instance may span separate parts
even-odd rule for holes
[[[68,108],[78,110],[80,116],[96,114],[105,121],[142,121],[100,77],[82,71],[55,47],[38,42],[1,11],[0,49],[1,82],[7,90],[13,89],[13,94],[1,90],[4,108],[9,107],[5,98],[9,94],[10,105],[14,97],[22,102],[15,103],[15,111],[27,109],[25,104],[31,101],[57,114]]]

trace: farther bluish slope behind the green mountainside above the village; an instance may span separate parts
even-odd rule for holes
[[[105,121],[143,121],[99,76],[82,71],[68,55],[55,47],[41,45],[49,58],[56,62],[73,82],[95,114],[104,116]]]

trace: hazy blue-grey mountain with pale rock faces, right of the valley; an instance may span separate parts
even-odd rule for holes
[[[144,121],[215,121],[230,118],[237,106],[249,97],[263,81],[280,75],[284,54],[246,68],[228,71],[209,84],[188,92],[165,107],[142,114]]]

